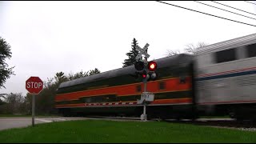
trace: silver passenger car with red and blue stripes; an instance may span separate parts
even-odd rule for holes
[[[230,113],[256,103],[256,34],[199,48],[195,57],[197,104]],[[222,110],[222,111],[223,111]]]

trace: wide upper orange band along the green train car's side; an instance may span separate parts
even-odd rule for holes
[[[148,82],[147,90],[152,93],[158,92],[166,92],[166,91],[179,91],[179,90],[188,90],[190,89],[191,82],[190,77],[186,77],[186,83],[180,84],[179,78],[169,78],[169,79],[162,79],[161,82],[166,82],[166,89],[158,90],[158,82]],[[73,92],[68,94],[57,94],[55,97],[55,102],[60,101],[67,101],[67,100],[78,100],[82,97],[91,97],[91,96],[98,96],[98,95],[105,95],[105,94],[116,94],[116,96],[124,96],[124,95],[138,95],[141,92],[136,91],[136,86],[138,84],[133,84],[129,86],[112,86],[108,88],[101,88],[97,90],[84,90],[79,92]],[[141,84],[141,86],[143,86]]]

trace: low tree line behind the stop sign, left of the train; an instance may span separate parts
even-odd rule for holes
[[[56,90],[62,82],[84,78],[90,75],[99,74],[100,70],[95,68],[83,72],[82,70],[75,74],[64,74],[62,71],[54,75],[54,78],[47,78],[42,91],[35,96],[35,112],[39,115],[57,114],[54,108],[54,97]],[[10,93],[4,96],[4,101],[0,100],[0,114],[31,114],[32,94]]]

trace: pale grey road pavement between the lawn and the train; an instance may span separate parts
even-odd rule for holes
[[[84,119],[102,119],[102,118],[86,118],[86,117],[54,117],[54,118],[34,118],[34,123],[46,123],[46,122],[62,122],[62,121],[72,121],[72,120],[84,120]],[[113,121],[137,121],[142,122],[139,118],[126,118],[126,119],[111,119],[111,118],[104,118],[107,120]],[[198,121],[209,121],[209,120],[232,120],[231,118],[198,118]],[[170,120],[171,121],[171,120]],[[186,121],[186,120],[185,120]],[[32,118],[0,118],[0,130],[6,130],[11,128],[20,128],[32,125]]]

